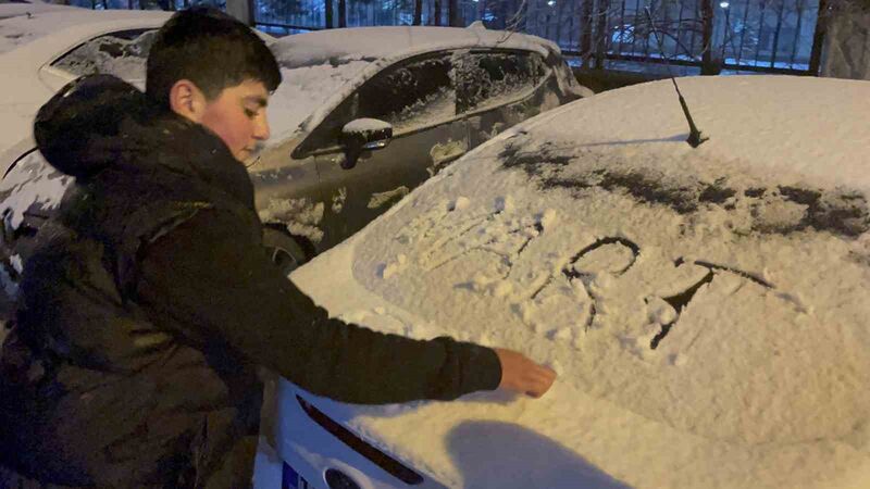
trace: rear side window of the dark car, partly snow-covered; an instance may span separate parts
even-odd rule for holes
[[[457,60],[457,109],[465,113],[505,103],[534,89],[546,75],[537,53],[471,51]]]

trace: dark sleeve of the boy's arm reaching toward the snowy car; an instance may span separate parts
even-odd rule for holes
[[[238,229],[229,212],[201,211],[147,248],[137,297],[156,321],[343,402],[449,400],[498,387],[492,349],[330,318]]]

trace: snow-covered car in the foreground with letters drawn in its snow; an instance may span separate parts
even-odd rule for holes
[[[679,86],[696,149],[671,80],[600,93],[290,275],[373,329],[522,351],[549,392],[357,406],[282,380],[257,487],[870,487],[870,83]]]

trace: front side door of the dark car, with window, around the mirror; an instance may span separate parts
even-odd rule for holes
[[[327,199],[321,248],[349,237],[468,151],[452,68],[450,51],[398,62],[364,83],[300,145],[295,158],[314,155]],[[389,123],[393,137],[345,168],[341,128],[359,118]]]

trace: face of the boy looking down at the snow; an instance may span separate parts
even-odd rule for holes
[[[245,80],[206,102],[198,122],[220,136],[236,160],[245,161],[269,139],[268,103],[269,90],[263,83]]]

